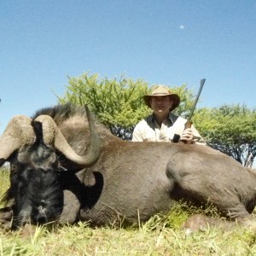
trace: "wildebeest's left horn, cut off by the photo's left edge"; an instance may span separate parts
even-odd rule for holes
[[[31,125],[32,119],[25,115],[18,115],[9,121],[9,124],[0,137],[0,166],[16,149],[34,143],[35,135]]]

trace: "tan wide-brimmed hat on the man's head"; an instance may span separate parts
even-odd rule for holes
[[[144,101],[149,108],[151,108],[151,98],[155,96],[170,96],[170,99],[172,101],[172,108],[170,108],[170,110],[177,108],[180,103],[180,97],[177,94],[172,93],[169,87],[167,87],[166,85],[157,84],[153,88],[154,89],[150,95],[143,96]]]

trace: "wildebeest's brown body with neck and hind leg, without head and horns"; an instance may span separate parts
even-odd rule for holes
[[[33,119],[42,114],[55,120],[77,154],[90,152],[91,131],[83,108],[73,105],[46,108]],[[48,126],[45,125],[47,129]],[[55,149],[56,179],[61,183],[57,194],[64,191],[62,212],[56,218],[61,223],[80,219],[96,225],[113,224],[124,218],[137,223],[157,212],[168,211],[172,202],[180,199],[195,205],[212,203],[224,216],[239,221],[251,218],[249,213],[256,199],[255,174],[229,156],[201,145],[125,142],[98,123],[96,131],[101,141],[100,154],[85,167],[81,167],[81,160],[74,162]],[[44,133],[47,136],[48,132]],[[49,148],[54,147],[49,145]],[[48,149],[45,150],[47,153]],[[11,184],[9,195],[15,193]],[[28,218],[27,213],[25,217]],[[37,216],[30,218],[37,222]]]

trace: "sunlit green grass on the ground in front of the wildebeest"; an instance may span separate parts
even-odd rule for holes
[[[0,192],[9,185],[9,172],[0,172]],[[0,195],[0,197],[1,197]],[[215,209],[177,203],[169,214],[157,214],[139,227],[90,228],[78,223],[29,232],[0,229],[0,255],[256,255],[256,235],[241,226],[224,231],[208,227],[191,235],[180,229],[194,212],[218,217]]]

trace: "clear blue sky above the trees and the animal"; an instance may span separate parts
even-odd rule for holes
[[[0,133],[55,105],[67,76],[199,89],[199,107],[256,108],[256,1],[1,0]]]

